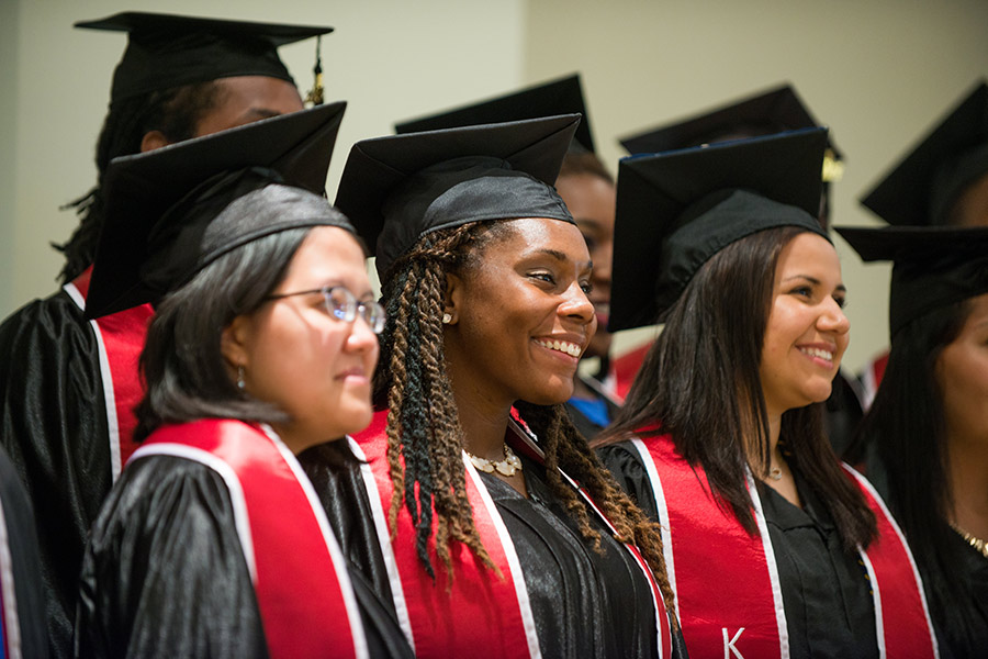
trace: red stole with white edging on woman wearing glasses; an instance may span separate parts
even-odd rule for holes
[[[312,484],[273,434],[203,420],[159,428],[134,459],[147,455],[195,460],[223,477],[272,659],[367,657],[346,560]]]

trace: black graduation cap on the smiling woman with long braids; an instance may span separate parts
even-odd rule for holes
[[[382,277],[440,228],[521,217],[572,223],[552,183],[579,122],[564,114],[358,142],[336,206],[377,246]]]

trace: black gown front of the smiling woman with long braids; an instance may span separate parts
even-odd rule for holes
[[[591,515],[603,552],[553,496],[541,465],[524,456],[528,499],[481,472],[515,545],[543,657],[656,657],[651,587],[632,557]],[[661,602],[660,602],[661,604]],[[686,657],[682,634],[673,657]]]

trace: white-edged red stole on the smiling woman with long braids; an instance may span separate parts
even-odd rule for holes
[[[374,509],[374,523],[391,580],[398,622],[417,657],[540,657],[535,618],[528,601],[521,566],[507,528],[469,460],[467,496],[481,541],[502,577],[475,559],[468,547],[450,544],[454,578],[449,576],[429,546],[436,580],[428,576],[415,550],[412,515],[402,505],[397,517],[398,541],[392,543],[388,525],[393,487],[388,468],[388,412],[374,414],[363,433],[356,436],[367,459],[364,483]],[[530,453],[523,446],[516,450]],[[359,455],[359,454],[358,454]],[[637,555],[637,550],[636,550]],[[639,561],[641,561],[640,557]],[[640,562],[643,565],[643,561]],[[649,577],[651,581],[651,576]],[[658,593],[654,588],[653,592]],[[658,602],[661,603],[661,595]],[[663,657],[671,655],[669,621],[656,615]]]

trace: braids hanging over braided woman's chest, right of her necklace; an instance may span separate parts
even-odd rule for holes
[[[675,626],[676,616],[672,615],[675,611],[675,600],[665,572],[659,524],[649,520],[621,490],[614,476],[570,421],[564,405],[536,405],[517,401],[515,409],[529,429],[539,437],[539,446],[546,454],[546,477],[549,487],[576,520],[580,533],[593,541],[595,550],[602,550],[600,534],[591,525],[586,506],[580,501],[576,491],[563,480],[560,469],[580,483],[614,525],[617,532],[615,539],[638,547],[662,592],[665,608],[670,612],[670,621]]]

